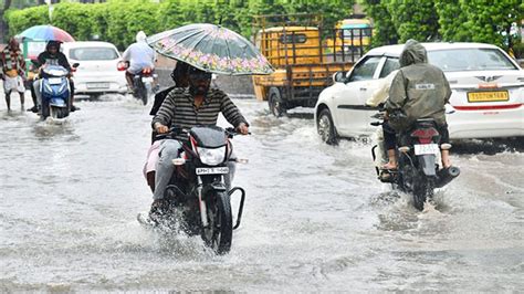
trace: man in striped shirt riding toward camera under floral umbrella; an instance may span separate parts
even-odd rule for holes
[[[226,93],[210,88],[211,74],[190,67],[189,88],[179,93],[175,88],[163,103],[151,126],[158,134],[169,132],[168,126],[189,129],[199,125],[217,125],[219,113],[243,135],[249,134],[249,124]],[[160,158],[156,166],[155,192],[149,216],[158,213],[163,206],[164,192],[175,170],[172,159],[179,157],[182,143],[188,139],[186,132],[178,134],[176,139],[165,139],[160,144]],[[234,176],[234,162],[230,162],[230,174],[224,175],[227,186],[231,186]]]

